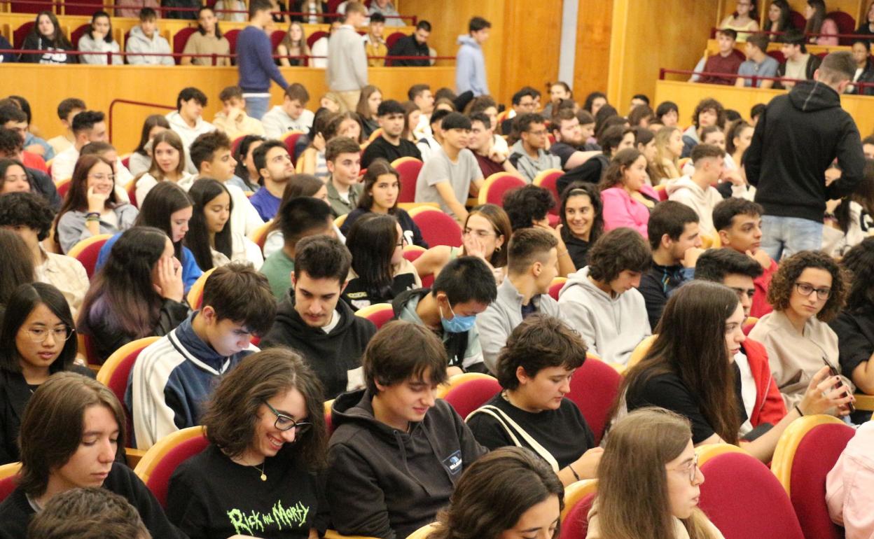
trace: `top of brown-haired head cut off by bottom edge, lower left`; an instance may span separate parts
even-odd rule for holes
[[[106,488],[71,488],[52,496],[27,525],[31,539],[147,539],[149,529],[123,496]]]

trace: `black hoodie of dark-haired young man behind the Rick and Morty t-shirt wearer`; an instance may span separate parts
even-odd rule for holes
[[[273,328],[261,340],[262,349],[285,346],[300,352],[322,381],[325,398],[334,398],[346,390],[348,371],[361,366],[361,355],[377,327],[356,316],[344,301],[336,302],[340,322],[325,333],[311,328],[295,311],[295,295],[289,290],[276,310]]]

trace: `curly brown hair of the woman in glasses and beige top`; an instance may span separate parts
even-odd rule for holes
[[[775,311],[785,311],[789,308],[789,298],[792,296],[795,280],[808,267],[825,270],[831,273],[831,294],[825,306],[816,314],[820,321],[830,321],[835,318],[843,307],[847,295],[847,284],[850,280],[835,259],[822,251],[800,251],[780,262],[780,269],[774,273],[771,286],[767,290],[767,302]]]

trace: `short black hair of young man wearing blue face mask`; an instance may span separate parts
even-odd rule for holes
[[[497,297],[495,275],[482,259],[463,256],[443,267],[434,280],[431,294],[446,294],[449,305],[476,301],[489,305]]]

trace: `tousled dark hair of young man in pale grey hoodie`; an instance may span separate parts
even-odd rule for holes
[[[652,264],[652,252],[641,233],[615,228],[598,238],[589,250],[589,275],[609,283],[624,271],[645,272]]]

